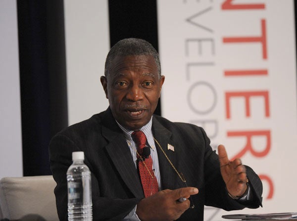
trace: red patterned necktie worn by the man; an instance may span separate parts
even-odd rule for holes
[[[141,183],[145,193],[145,197],[151,196],[158,192],[158,182],[152,170],[152,160],[151,156],[147,159],[141,157],[143,154],[144,147],[147,146],[147,137],[142,131],[134,131],[132,133],[132,138],[136,143],[138,149],[137,152],[140,156],[138,157],[138,169],[141,178]]]

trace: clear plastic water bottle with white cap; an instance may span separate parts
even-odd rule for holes
[[[84,152],[73,152],[73,163],[67,170],[68,221],[93,219],[91,172],[84,160]]]

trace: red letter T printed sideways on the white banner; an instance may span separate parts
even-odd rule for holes
[[[262,44],[263,59],[267,59],[266,47],[266,21],[261,19],[261,36],[259,37],[226,37],[223,38],[223,43],[247,43],[247,42],[260,42]]]

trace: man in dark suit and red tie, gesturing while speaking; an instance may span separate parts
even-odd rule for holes
[[[204,205],[225,210],[261,206],[262,183],[251,168],[240,159],[230,162],[222,145],[218,155],[212,151],[202,128],[153,115],[165,77],[148,42],[119,41],[106,57],[104,75],[108,109],[59,132],[49,146],[60,220],[67,220],[66,171],[74,151],[85,153],[92,173],[95,221],[201,221]],[[134,136],[139,131],[149,156],[140,154]],[[146,197],[142,165],[151,183],[157,182]]]

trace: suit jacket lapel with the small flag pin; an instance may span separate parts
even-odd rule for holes
[[[168,144],[174,146],[174,142],[171,139],[172,133],[162,126],[154,117],[152,119],[152,134],[154,138],[158,141],[171,163],[176,166],[176,153],[167,148]],[[156,142],[155,145],[158,152],[162,189],[175,189],[178,175]]]

